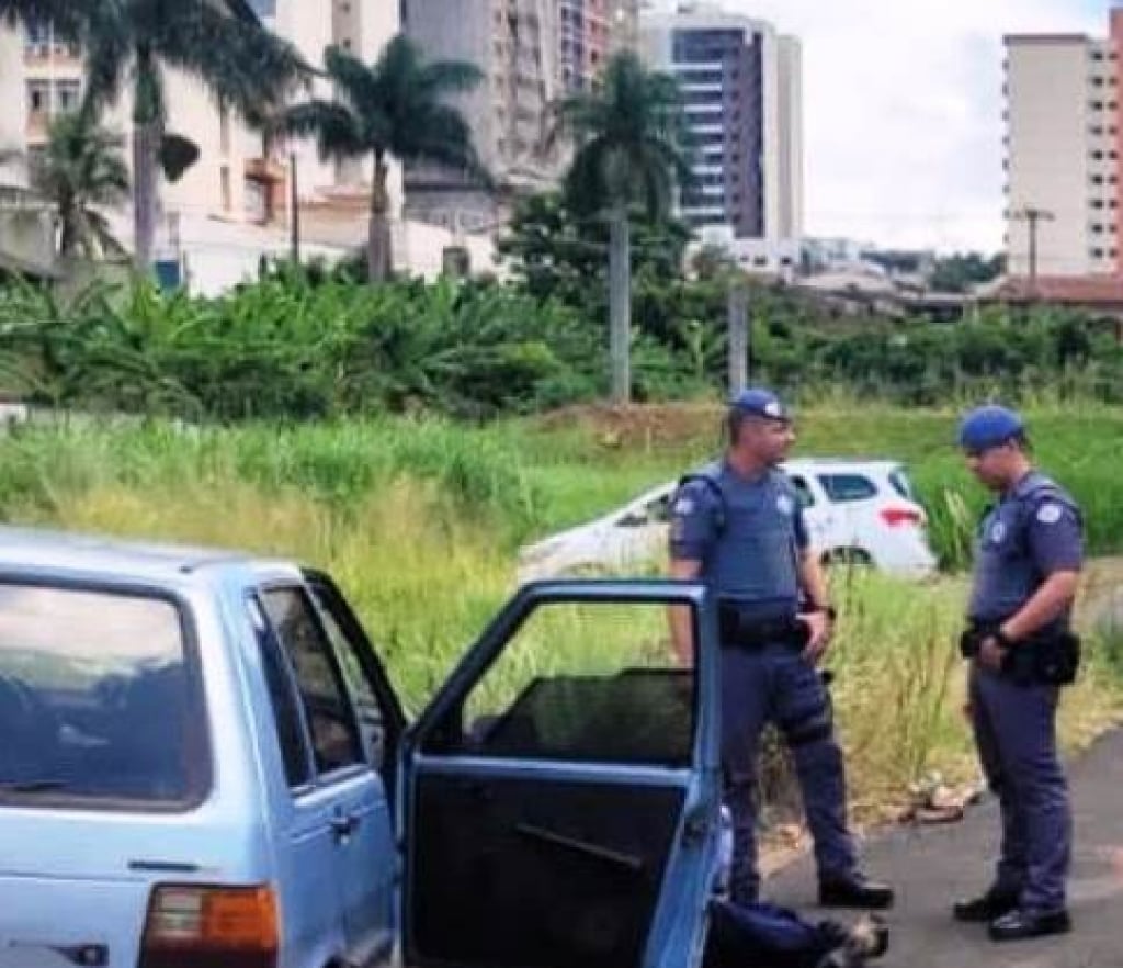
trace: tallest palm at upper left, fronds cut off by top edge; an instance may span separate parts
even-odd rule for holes
[[[6,2],[27,0],[0,0]],[[285,97],[308,69],[292,45],[268,33],[238,0],[228,0],[226,9],[213,0],[85,2],[83,111],[97,114],[116,101],[126,79],[133,89],[134,234],[136,262],[146,271],[155,236],[157,164],[185,146],[184,138],[172,143],[167,137],[165,71],[202,81],[221,106],[259,123],[264,107]]]

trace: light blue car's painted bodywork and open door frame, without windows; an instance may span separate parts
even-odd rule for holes
[[[401,845],[417,851],[433,836],[414,826],[402,841],[395,822],[395,808],[417,796],[416,787],[402,785],[418,778],[455,784],[482,778],[528,789],[545,784],[559,800],[567,791],[581,798],[594,788],[608,790],[599,795],[617,825],[627,822],[628,804],[670,797],[672,807],[660,816],[673,836],[656,858],[663,876],[650,892],[654,915],[643,925],[637,966],[696,964],[716,860],[719,797],[718,660],[704,590],[677,582],[559,582],[519,591],[439,691],[411,745],[401,743],[401,707],[387,695],[389,680],[349,608],[332,606],[330,596],[317,598],[325,582],[330,586],[326,576],[282,560],[0,528],[0,586],[175,603],[204,697],[195,726],[206,738],[195,763],[206,782],[198,797],[183,803],[90,803],[46,788],[0,788],[0,968],[56,968],[75,964],[75,957],[103,968],[135,968],[153,893],[168,885],[271,888],[281,913],[279,968],[385,964],[402,914]],[[292,652],[291,630],[263,604],[263,596],[277,590],[316,603],[313,624],[328,643],[323,655],[346,700],[348,725],[363,740],[363,756],[349,766],[317,766],[316,709],[298,708],[307,699],[301,690],[308,670]],[[489,766],[421,754],[416,743],[426,724],[494,661],[504,633],[528,609],[567,596],[591,603],[675,600],[695,609],[700,641],[709,646],[699,655],[691,698],[696,730],[690,762],[679,769],[620,769],[514,758]],[[339,626],[335,631],[329,612]],[[0,603],[0,675],[9,648],[3,630]],[[349,671],[341,658],[348,649],[358,650]],[[362,718],[362,702],[369,696],[360,702],[356,675],[377,699],[377,722]],[[162,715],[150,715],[155,729]],[[400,749],[409,769],[399,763]],[[0,776],[0,787],[6,779]],[[60,917],[63,911],[66,916]],[[446,965],[476,964],[472,952],[453,955]]]

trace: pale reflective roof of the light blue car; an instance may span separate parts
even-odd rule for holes
[[[81,532],[0,526],[0,570],[47,570],[107,578],[183,581],[210,568],[262,568],[280,562],[243,551],[145,542]]]

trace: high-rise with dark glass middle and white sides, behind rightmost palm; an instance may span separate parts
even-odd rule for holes
[[[640,46],[677,78],[694,144],[682,217],[751,268],[794,266],[803,234],[801,46],[770,25],[681,2],[643,13]]]

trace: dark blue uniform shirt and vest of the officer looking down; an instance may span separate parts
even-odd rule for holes
[[[979,525],[970,617],[1004,621],[1050,575],[1079,571],[1083,563],[1076,501],[1044,474],[1032,471],[1002,496]]]

